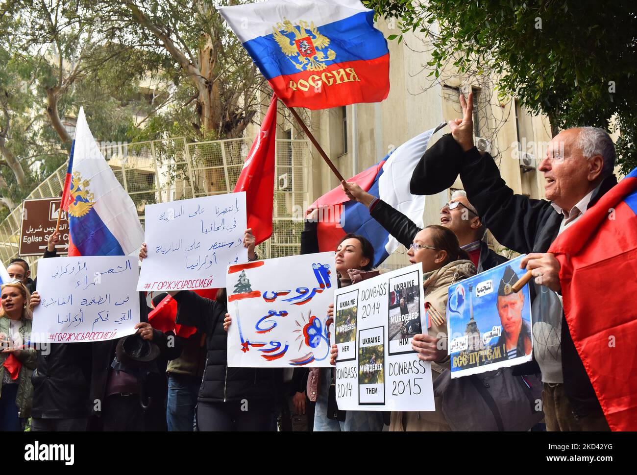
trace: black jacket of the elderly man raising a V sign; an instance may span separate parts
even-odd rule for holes
[[[427,156],[426,152],[423,159],[440,160],[449,164],[449,167],[459,168],[469,201],[497,241],[519,253],[547,252],[562,222],[562,215],[553,209],[550,202],[513,194],[488,153],[481,156],[475,147],[463,152],[450,134],[440,140],[447,145],[446,155]],[[412,182],[415,178],[412,176]],[[615,176],[605,178],[592,194],[589,208],[615,184]],[[531,286],[532,299],[535,294],[533,288]],[[561,345],[564,389],[573,412],[582,417],[599,410],[599,401],[575,349],[563,313]],[[517,366],[515,370],[514,374],[533,374],[540,372],[540,367],[533,361]]]

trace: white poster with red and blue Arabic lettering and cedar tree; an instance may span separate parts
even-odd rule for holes
[[[228,267],[229,367],[329,367],[334,253]]]

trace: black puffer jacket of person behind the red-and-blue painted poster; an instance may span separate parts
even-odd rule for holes
[[[199,388],[201,402],[241,401],[241,399],[271,399],[280,397],[283,381],[281,369],[230,368],[227,366],[228,334],[224,330],[226,302],[201,297],[182,290],[175,295],[176,323],[196,327],[206,334],[206,369]]]

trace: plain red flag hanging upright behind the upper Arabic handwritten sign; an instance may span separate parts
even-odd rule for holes
[[[275,193],[276,94],[254,139],[234,192],[245,191],[248,227],[256,243],[272,236],[272,208]]]

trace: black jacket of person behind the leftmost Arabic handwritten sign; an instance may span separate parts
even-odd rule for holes
[[[45,251],[44,257],[57,257]],[[38,279],[33,282],[36,289]],[[91,343],[50,343],[38,350],[33,371],[32,417],[80,418],[90,415]]]

